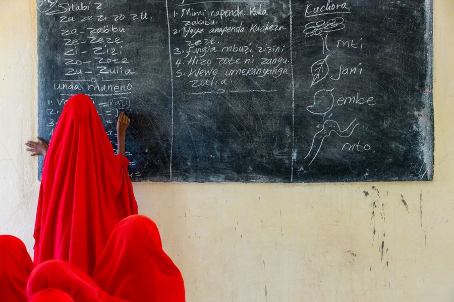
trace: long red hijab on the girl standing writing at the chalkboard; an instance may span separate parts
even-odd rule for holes
[[[92,100],[71,97],[44,160],[35,264],[66,260],[91,276],[115,225],[137,214],[128,164],[113,154]]]

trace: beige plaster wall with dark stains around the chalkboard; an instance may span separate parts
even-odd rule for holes
[[[452,0],[435,1],[434,23],[433,182],[134,184],[188,301],[454,300]],[[35,1],[1,0],[0,233],[30,252],[36,65]]]

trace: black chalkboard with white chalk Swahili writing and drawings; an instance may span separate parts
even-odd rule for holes
[[[431,180],[432,7],[39,0],[38,134],[84,93],[136,181]]]

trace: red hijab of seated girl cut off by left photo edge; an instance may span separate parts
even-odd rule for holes
[[[0,235],[0,298],[8,302],[25,302],[25,286],[33,262],[19,238]]]

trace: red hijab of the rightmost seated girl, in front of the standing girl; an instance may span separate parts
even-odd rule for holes
[[[162,250],[156,224],[133,215],[113,230],[93,280],[109,295],[131,302],[184,302],[180,270]]]

